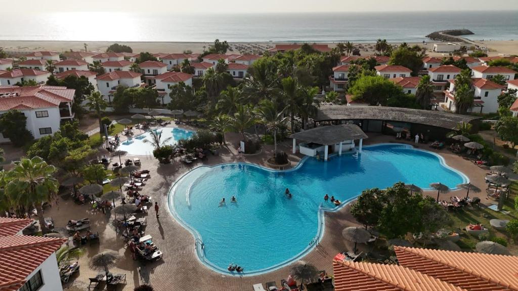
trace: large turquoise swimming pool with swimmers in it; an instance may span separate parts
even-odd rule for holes
[[[229,273],[226,268],[234,263],[251,275],[280,268],[314,247],[323,235],[323,211],[337,210],[324,202],[326,193],[347,202],[365,188],[386,188],[398,181],[422,188],[441,182],[454,188],[468,180],[437,154],[379,144],[328,162],[306,158],[287,171],[243,163],[198,167],[171,188],[169,208],[203,241],[205,248],[198,245],[197,253],[204,264]],[[285,197],[286,187],[292,199]],[[230,201],[233,195],[237,203]],[[226,203],[220,206],[223,197]]]

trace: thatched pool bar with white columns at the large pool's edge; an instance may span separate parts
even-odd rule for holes
[[[353,151],[355,149],[354,140],[359,140],[358,153],[362,152],[363,139],[368,136],[355,124],[341,124],[315,127],[292,134],[293,153],[297,151],[297,139],[302,140],[299,144],[301,154],[307,156],[321,156],[323,151],[324,161],[329,156],[329,147],[338,155],[343,151]]]

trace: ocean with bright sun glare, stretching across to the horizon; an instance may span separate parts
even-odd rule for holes
[[[518,39],[518,11],[270,14],[13,13],[0,40],[78,41],[389,41],[416,42],[450,28],[472,39]]]

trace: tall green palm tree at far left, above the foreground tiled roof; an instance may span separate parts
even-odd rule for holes
[[[36,208],[39,226],[45,234],[47,224],[45,223],[43,209],[44,202],[51,202],[57,194],[59,183],[52,176],[56,168],[48,165],[42,158],[35,156],[31,159],[22,158],[14,162],[15,167],[9,171],[11,179],[7,185],[8,193],[17,193],[18,203],[26,209]]]

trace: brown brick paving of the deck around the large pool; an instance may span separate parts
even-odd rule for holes
[[[365,145],[398,142],[394,137],[390,136],[371,133],[368,135],[369,139],[364,141]],[[240,135],[237,134],[226,134],[225,136],[228,144],[237,144],[240,139]],[[420,144],[419,147],[439,153],[444,157],[448,165],[464,172],[469,177],[471,183],[482,190],[485,189],[483,177],[487,170],[448,150],[433,150],[426,144]],[[278,150],[290,153],[292,166],[296,165],[302,157],[299,154],[291,154],[291,140],[281,142],[278,145]],[[229,146],[229,149],[223,147],[220,149],[218,156],[210,155],[208,160],[203,162],[203,165],[217,165],[228,162],[247,162],[265,165],[272,152],[273,146],[264,146],[261,154],[244,155],[240,158],[235,147]],[[232,276],[214,272],[202,264],[196,256],[194,237],[175,221],[167,207],[168,192],[171,185],[182,174],[193,167],[202,165],[202,163],[198,162],[193,166],[186,166],[176,158],[171,164],[159,165],[152,156],[140,156],[140,159],[142,162],[141,169],[148,169],[151,174],[151,178],[143,186],[140,193],[151,196],[153,203],[158,201],[160,206],[160,218],[157,219],[153,207],[149,205],[150,210],[144,216],[147,217],[146,235],[151,235],[153,242],[164,253],[163,260],[153,263],[134,261],[123,239],[111,225],[113,214],[110,214],[110,212],[103,214],[102,212],[94,211],[90,205],[77,205],[73,199],[60,199],[58,205],[53,205],[45,213],[46,217],[53,217],[56,228],[64,228],[66,222],[70,219],[89,217],[92,231],[98,231],[100,235],[100,244],[89,245],[87,243],[84,245],[85,252],[78,260],[81,266],[80,272],[69,283],[64,285],[65,288],[70,290],[87,290],[89,278],[95,277],[98,273],[97,270],[92,270],[88,267],[90,258],[96,253],[108,249],[119,252],[121,256],[117,265],[111,268],[110,271],[112,273],[126,274],[126,284],[119,286],[118,290],[133,290],[135,286],[146,283],[151,284],[155,290],[252,290],[252,285],[256,283],[265,284],[266,282],[276,281],[279,284],[281,279],[286,279],[290,273],[290,266],[266,274],[240,277],[238,275]],[[434,198],[437,195],[435,191],[426,191],[425,193]],[[452,195],[462,196],[465,195],[465,191],[459,190],[441,194],[440,198],[449,200],[449,197]],[[480,197],[483,203],[488,203],[489,201],[486,200],[484,191],[472,193],[470,196]],[[325,232],[321,242],[302,260],[314,265],[319,270],[326,270],[328,273],[332,273],[333,257],[339,252],[352,250],[352,243],[345,241],[341,236],[342,229],[348,226],[359,226],[350,214],[349,206],[345,206],[337,212],[327,212],[325,214]],[[286,225],[286,227],[290,227],[290,225]],[[271,234],[270,237],[264,237],[263,239],[271,240],[279,235],[282,235],[282,229],[279,229],[278,233]],[[228,243],[228,248],[232,248],[232,242]],[[261,258],[251,259],[260,260]],[[246,266],[243,267],[246,271]]]

